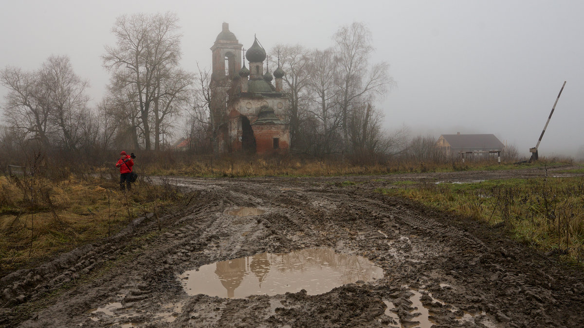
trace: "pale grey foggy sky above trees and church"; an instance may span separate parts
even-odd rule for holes
[[[492,133],[528,156],[567,81],[539,153],[584,145],[584,1],[0,1],[0,67],[37,69],[68,55],[94,102],[108,81],[100,55],[123,14],[178,13],[190,71],[210,67],[223,22],[245,48],[257,34],[266,50],[326,48],[340,26],[364,22],[372,62],[389,62],[398,83],[377,104],[387,130]]]

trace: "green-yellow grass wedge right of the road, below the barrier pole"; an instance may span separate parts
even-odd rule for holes
[[[516,240],[584,263],[583,177],[426,183],[376,191],[490,224],[503,222]]]

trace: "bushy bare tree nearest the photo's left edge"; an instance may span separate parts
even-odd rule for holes
[[[75,74],[68,57],[51,56],[34,72],[8,67],[0,73],[0,81],[9,89],[4,114],[12,128],[45,148],[52,139],[53,145],[68,151],[78,149],[89,83]]]

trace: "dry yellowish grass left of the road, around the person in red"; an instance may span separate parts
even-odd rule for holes
[[[112,235],[152,212],[155,202],[164,207],[181,197],[168,184],[143,181],[124,193],[117,179],[1,176],[0,270],[15,270]]]

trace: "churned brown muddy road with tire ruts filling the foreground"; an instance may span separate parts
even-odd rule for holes
[[[548,169],[550,178],[553,172]],[[544,174],[172,177],[169,182],[194,197],[160,218],[162,232],[147,215],[116,236],[2,277],[0,326],[582,327],[581,271],[513,242],[501,228],[374,192],[396,180]],[[347,180],[360,183],[342,183]],[[314,249],[319,253],[286,257]],[[335,254],[344,257],[331,260]],[[325,260],[317,266],[335,261],[340,271],[347,264],[382,274],[350,277],[352,282],[317,295],[306,289],[237,295],[244,278],[266,285],[267,277],[284,273],[270,268],[277,261],[302,266],[319,257]],[[223,296],[185,288],[189,277],[194,289],[211,286],[202,280],[197,285],[194,274],[203,271],[235,282],[222,281],[225,289],[217,295]]]

